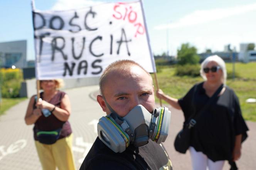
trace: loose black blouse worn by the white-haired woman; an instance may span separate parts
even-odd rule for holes
[[[194,112],[198,113],[208,100],[203,82],[194,85],[180,98],[179,105],[184,112],[185,122]],[[197,124],[192,128],[190,146],[214,162],[231,160],[235,136],[242,134],[243,142],[247,138],[246,131],[248,127],[242,117],[239,100],[234,91],[226,87],[224,93],[216,97],[197,119]]]

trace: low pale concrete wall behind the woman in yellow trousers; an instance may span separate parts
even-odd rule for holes
[[[76,79],[64,79],[64,87],[62,89],[77,88],[90,85],[98,85],[99,77],[89,77],[89,78],[76,78]],[[21,84],[20,97],[30,98],[32,95],[37,93],[36,90],[36,80],[35,78],[30,80],[25,80]]]

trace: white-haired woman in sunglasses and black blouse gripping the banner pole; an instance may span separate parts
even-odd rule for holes
[[[226,65],[221,57],[207,57],[201,64],[200,75],[205,81],[194,85],[183,98],[172,98],[160,89],[157,97],[182,109],[184,124],[204,108],[191,130],[189,151],[193,170],[221,170],[224,160],[232,167],[232,162],[241,156],[241,143],[248,131],[239,100],[226,86]],[[214,95],[218,89],[220,93]],[[212,96],[216,97],[209,100]],[[208,101],[211,102],[207,104]]]

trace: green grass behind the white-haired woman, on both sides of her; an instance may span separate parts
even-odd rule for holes
[[[232,73],[232,63],[226,63],[226,67],[227,72]],[[235,72],[237,77],[228,79],[227,85],[238,96],[243,117],[256,122],[256,103],[246,103],[246,99],[256,98],[256,62],[235,63]],[[174,98],[183,97],[195,83],[203,81],[201,77],[177,77],[174,73],[175,66],[161,67],[161,72],[157,73],[159,88]],[[154,79],[154,75],[152,77]],[[156,102],[159,102],[158,98]]]

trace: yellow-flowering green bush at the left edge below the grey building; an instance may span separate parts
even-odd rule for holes
[[[17,69],[0,69],[1,92],[3,98],[19,97],[20,83],[22,82],[22,71]]]

